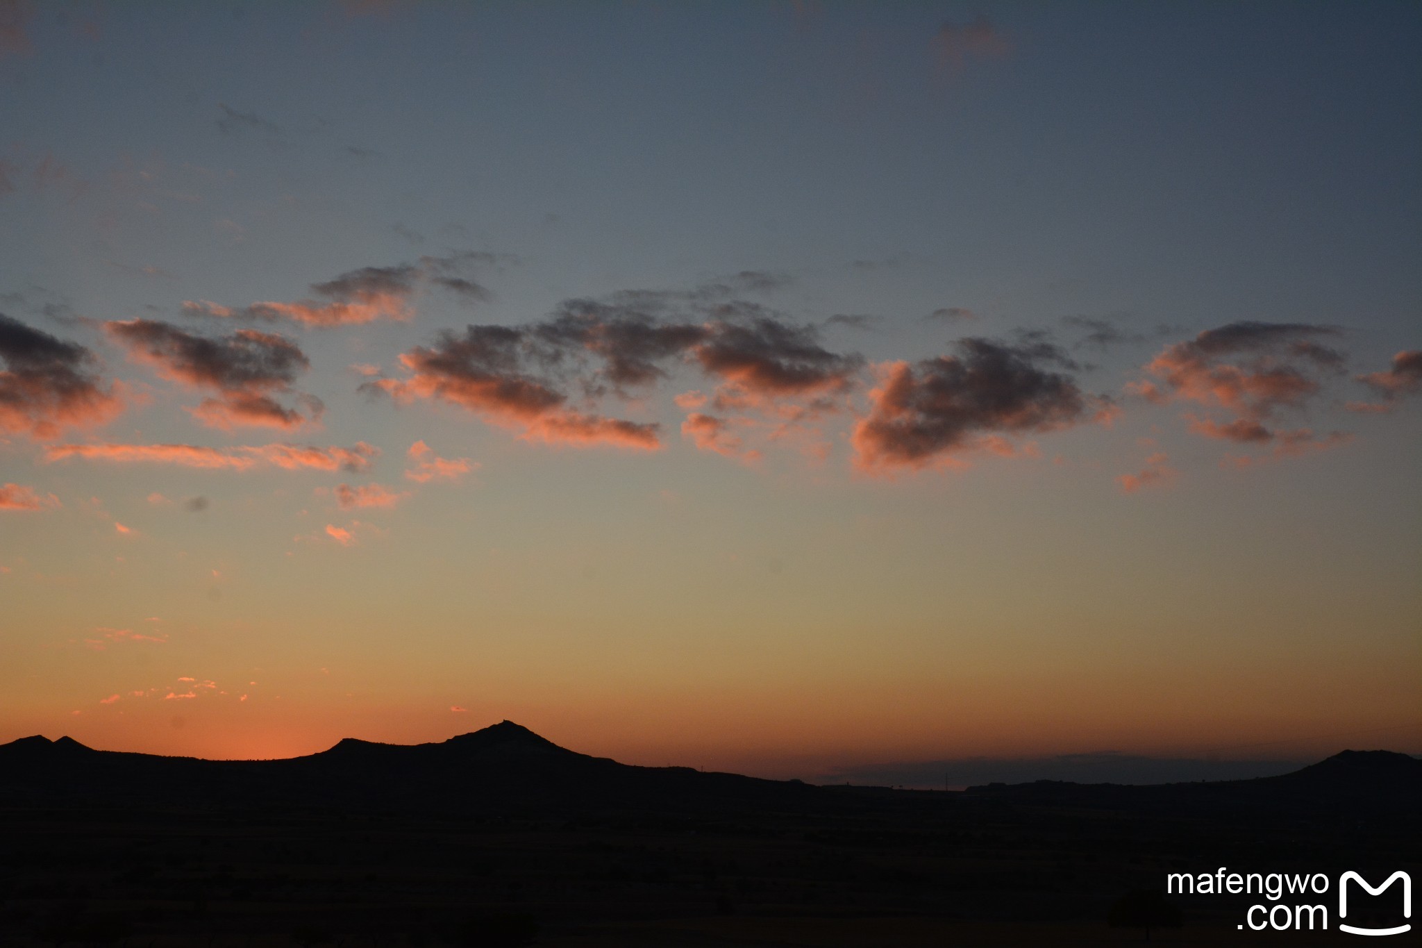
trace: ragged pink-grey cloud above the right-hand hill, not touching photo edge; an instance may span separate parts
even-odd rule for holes
[[[1128,385],[1146,401],[1189,401],[1226,414],[1224,421],[1190,419],[1190,431],[1207,438],[1266,443],[1270,419],[1283,409],[1303,408],[1341,371],[1342,352],[1318,340],[1338,334],[1327,325],[1300,323],[1230,323],[1193,340],[1167,345],[1146,364],[1152,379]]]

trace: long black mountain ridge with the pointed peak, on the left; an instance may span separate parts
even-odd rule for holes
[[[577,753],[513,722],[439,743],[347,738],[284,760],[94,750],[61,738],[0,746],[0,799],[161,806],[350,806],[468,812],[796,809],[819,787]]]

